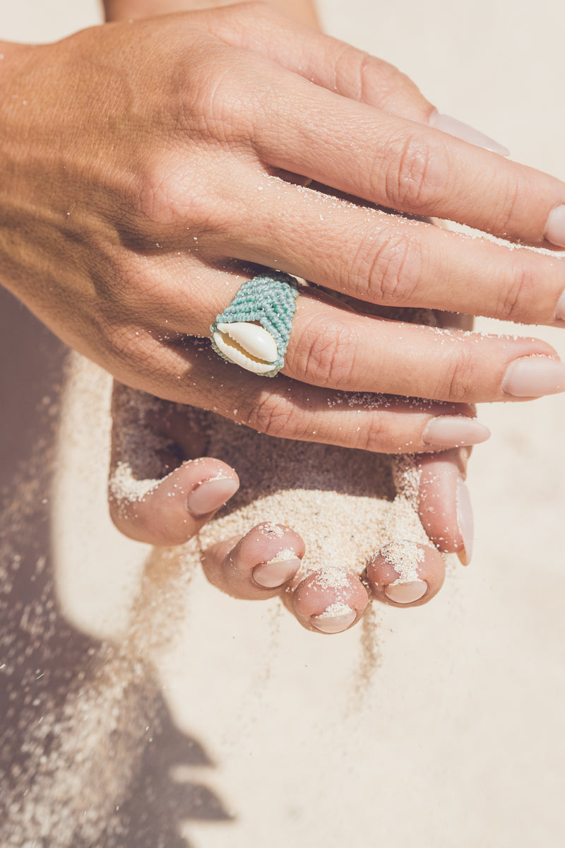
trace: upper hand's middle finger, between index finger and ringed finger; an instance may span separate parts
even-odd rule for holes
[[[246,181],[257,199],[245,226],[234,220],[226,233],[235,259],[369,303],[563,325],[565,261],[555,254],[509,250],[249,173]]]

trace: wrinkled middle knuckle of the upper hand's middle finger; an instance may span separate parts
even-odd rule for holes
[[[418,241],[389,230],[373,237],[363,253],[359,276],[368,285],[370,299],[380,304],[409,305],[423,265]]]

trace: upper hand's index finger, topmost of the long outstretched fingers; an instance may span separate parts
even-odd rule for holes
[[[268,84],[252,135],[265,165],[410,215],[565,245],[561,181],[297,75],[273,70]]]

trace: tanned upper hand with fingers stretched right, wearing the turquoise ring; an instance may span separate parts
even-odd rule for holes
[[[391,66],[254,3],[3,51],[3,282],[121,381],[275,435],[411,452],[431,418],[565,388],[541,341],[387,321],[315,289],[273,380],[204,340],[264,266],[361,309],[561,321],[557,254],[381,210],[565,243],[565,186],[429,126]],[[410,414],[386,427],[390,404],[355,420],[335,390],[435,403],[395,401]]]

